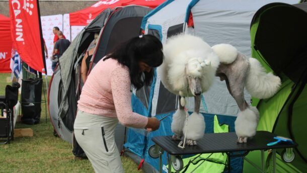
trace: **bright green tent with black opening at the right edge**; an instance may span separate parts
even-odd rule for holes
[[[257,130],[293,139],[295,149],[277,150],[277,172],[307,170],[307,3],[268,4],[257,11],[251,23],[252,57],[266,70],[277,74],[282,85],[266,100],[253,98],[260,112]],[[248,159],[261,166],[261,152]],[[271,172],[272,157],[265,152],[266,171]],[[244,172],[259,172],[247,161]]]

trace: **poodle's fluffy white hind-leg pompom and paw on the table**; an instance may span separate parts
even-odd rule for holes
[[[247,138],[256,135],[257,125],[259,120],[259,112],[256,108],[247,108],[240,111],[235,121],[236,134],[239,137],[239,143],[246,143]]]

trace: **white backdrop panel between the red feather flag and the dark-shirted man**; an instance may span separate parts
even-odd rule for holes
[[[53,71],[51,69],[51,55],[53,51],[53,38],[52,33],[53,27],[58,27],[60,31],[63,31],[63,15],[53,15],[53,16],[41,16],[42,32],[43,38],[46,43],[48,50],[48,59],[46,59],[47,74],[52,75]],[[64,34],[65,35],[65,34]]]

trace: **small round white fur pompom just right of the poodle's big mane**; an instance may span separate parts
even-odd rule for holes
[[[238,56],[238,50],[230,44],[216,44],[212,46],[213,51],[223,64],[231,64]]]

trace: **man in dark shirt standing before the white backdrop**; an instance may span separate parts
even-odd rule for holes
[[[55,42],[55,45],[54,45],[54,56],[52,57],[53,61],[52,61],[52,66],[51,66],[52,71],[54,71],[54,69],[57,65],[58,58],[60,58],[62,56],[62,54],[65,52],[65,50],[70,45],[69,40],[67,40],[63,37],[62,31],[59,31],[57,33],[57,35],[59,37],[59,40],[57,40]]]

